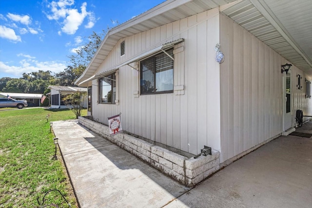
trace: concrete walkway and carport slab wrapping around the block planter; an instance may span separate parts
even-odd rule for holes
[[[312,207],[311,138],[281,136],[189,189],[76,120],[53,131],[82,208]]]

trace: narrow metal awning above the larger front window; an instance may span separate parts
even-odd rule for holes
[[[171,48],[171,47],[173,47],[174,45],[176,45],[176,44],[178,44],[178,43],[180,43],[180,42],[183,42],[183,41],[184,41],[184,39],[183,39],[183,38],[180,38],[180,39],[176,39],[176,40],[171,41],[171,42],[167,42],[167,43],[161,44],[161,45],[157,46],[156,48],[153,48],[153,49],[151,49],[151,50],[145,51],[145,52],[143,52],[143,53],[137,55],[136,57],[131,58],[131,59],[129,59],[129,60],[127,60],[127,61],[125,61],[125,62],[123,62],[123,63],[117,65],[116,68],[120,68],[120,67],[122,67],[122,66],[124,66],[124,65],[127,65],[127,64],[130,64],[130,63],[133,63],[133,62],[136,62],[136,61],[138,61],[138,60],[140,60],[140,59],[142,59],[142,58],[144,58],[144,57],[148,57],[148,56],[150,56],[150,55],[152,55],[152,54],[154,54],[154,53],[156,53],[156,52],[158,52],[158,51],[166,50],[166,49],[168,49],[168,48]]]

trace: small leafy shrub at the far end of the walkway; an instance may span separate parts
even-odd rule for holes
[[[73,113],[75,113],[76,118],[81,115],[81,111],[83,109],[83,103],[85,98],[87,97],[86,92],[77,92],[74,94],[65,95],[62,99],[64,104],[68,109],[70,109]]]

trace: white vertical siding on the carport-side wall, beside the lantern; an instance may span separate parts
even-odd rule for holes
[[[283,131],[281,65],[287,60],[224,15],[220,15],[220,43],[225,55],[220,64],[220,162],[224,162]],[[303,76],[302,90],[296,89],[297,74]],[[311,114],[304,73],[292,66],[291,76],[292,117],[300,109],[294,105]]]

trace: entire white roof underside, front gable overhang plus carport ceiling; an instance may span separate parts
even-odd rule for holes
[[[75,84],[82,83],[96,73],[119,39],[216,7],[312,76],[310,0],[167,0],[111,29]]]

